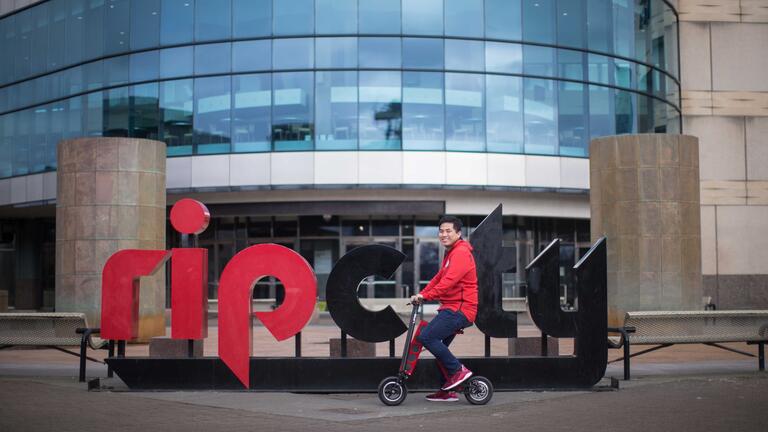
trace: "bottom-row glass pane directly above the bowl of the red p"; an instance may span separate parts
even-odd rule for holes
[[[313,131],[312,72],[272,76],[272,140],[274,150],[311,150]]]

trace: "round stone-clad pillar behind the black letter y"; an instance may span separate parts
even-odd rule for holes
[[[702,308],[698,139],[643,134],[590,144],[592,240],[608,238],[608,323],[627,311]]]

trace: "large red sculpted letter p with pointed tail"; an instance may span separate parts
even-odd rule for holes
[[[253,313],[253,286],[265,276],[283,283],[285,300],[272,312]],[[317,301],[317,280],[304,258],[285,246],[261,244],[232,258],[219,278],[219,357],[246,388],[253,352],[252,317],[277,340],[285,340],[309,322]]]

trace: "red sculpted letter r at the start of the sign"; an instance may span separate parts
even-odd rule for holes
[[[139,334],[139,277],[155,273],[171,256],[164,250],[115,252],[101,273],[101,337],[130,340]]]

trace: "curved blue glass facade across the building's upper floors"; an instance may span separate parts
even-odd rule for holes
[[[680,127],[662,0],[50,0],[0,19],[0,54],[0,178],[83,135],[585,157]]]

